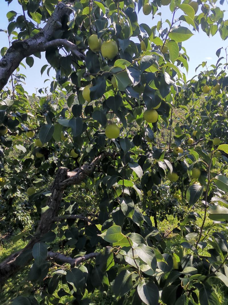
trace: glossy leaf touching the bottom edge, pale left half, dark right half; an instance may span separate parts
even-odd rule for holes
[[[152,281],[144,281],[137,286],[140,299],[147,305],[157,305],[159,300],[159,290]]]

